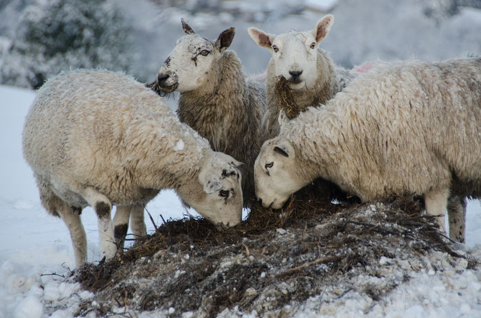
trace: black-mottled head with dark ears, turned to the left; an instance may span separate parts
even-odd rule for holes
[[[215,41],[196,34],[182,19],[185,36],[179,38],[157,74],[157,84],[164,93],[194,91],[212,78],[212,73],[225,49],[234,38],[231,27]]]

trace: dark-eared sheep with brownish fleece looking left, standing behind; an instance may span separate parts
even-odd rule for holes
[[[247,77],[236,53],[227,49],[234,27],[211,41],[181,22],[185,35],[161,65],[156,86],[163,93],[180,93],[181,122],[208,139],[214,150],[245,163],[240,171],[244,205],[249,206],[255,197],[254,160],[266,139],[261,127],[265,84],[261,76]]]

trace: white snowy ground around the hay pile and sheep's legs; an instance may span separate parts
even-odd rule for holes
[[[21,155],[23,118],[33,98],[33,91],[0,87],[3,149],[0,156],[0,318],[47,317],[44,312],[48,307],[60,303],[61,309],[51,317],[72,317],[82,299],[92,297],[91,293],[81,291],[78,284],[65,282],[59,276],[68,275],[74,264],[67,228],[41,207],[32,173]],[[161,192],[147,208],[157,224],[161,224],[160,214],[167,219],[180,218],[185,213],[177,196],[170,191]],[[82,220],[87,231],[89,262],[96,262],[98,231],[93,210],[86,209]],[[146,220],[148,229],[153,230],[147,216]],[[464,248],[481,256],[479,201],[469,203]],[[442,260],[443,255],[433,257]],[[387,308],[389,317],[480,317],[481,271],[468,270],[465,266],[460,261],[443,273],[413,272],[414,279],[398,286],[379,304],[347,293],[341,307],[336,303],[335,308],[320,310],[318,303],[322,296],[313,297],[296,317],[309,317],[309,313],[314,312],[326,317],[359,317],[369,306],[374,306],[370,317],[381,317]],[[151,314],[145,313],[142,317]],[[228,315],[236,317],[235,310]]]

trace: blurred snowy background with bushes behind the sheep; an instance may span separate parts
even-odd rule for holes
[[[481,0],[0,0],[0,84],[36,89],[62,70],[125,71],[142,82],[183,35],[232,42],[247,73],[262,73],[271,54],[247,34],[311,30],[324,14],[335,23],[321,47],[336,63],[440,60],[481,54]]]

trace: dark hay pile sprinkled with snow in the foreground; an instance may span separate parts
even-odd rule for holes
[[[225,232],[203,219],[166,222],[124,255],[76,272],[95,293],[79,314],[290,317],[315,295],[323,295],[320,306],[350,291],[374,304],[413,273],[476,265],[451,251],[421,212],[410,199],[292,200],[280,213],[254,205]]]

